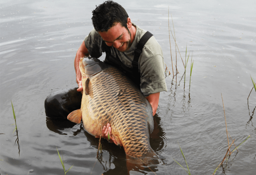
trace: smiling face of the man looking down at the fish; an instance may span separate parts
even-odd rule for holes
[[[113,46],[120,52],[127,51],[131,47],[131,33],[119,22],[106,32],[99,32],[107,46]]]

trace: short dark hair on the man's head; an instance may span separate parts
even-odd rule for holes
[[[96,6],[96,9],[92,11],[92,24],[96,31],[108,31],[115,25],[116,22],[120,22],[121,26],[127,27],[128,14],[124,8],[116,2],[105,1],[103,4]]]

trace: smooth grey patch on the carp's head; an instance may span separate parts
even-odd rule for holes
[[[84,73],[88,76],[93,76],[109,66],[97,58],[83,57]]]

